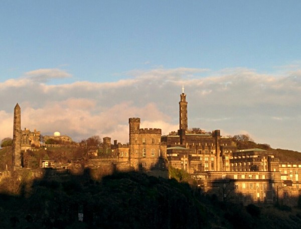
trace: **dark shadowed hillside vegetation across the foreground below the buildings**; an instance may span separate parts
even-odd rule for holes
[[[219,202],[175,179],[47,170],[29,182],[23,173],[18,195],[8,193],[13,178],[1,182],[1,228],[301,228],[300,209]]]

